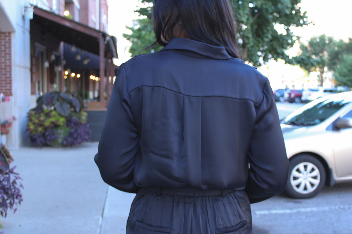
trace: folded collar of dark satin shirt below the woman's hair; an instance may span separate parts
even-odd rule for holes
[[[213,46],[186,38],[173,38],[162,50],[189,50],[214,59],[232,59],[224,46]]]

